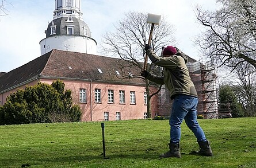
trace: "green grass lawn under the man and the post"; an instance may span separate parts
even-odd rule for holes
[[[256,167],[256,118],[198,120],[211,141],[213,157],[198,150],[182,123],[182,158],[159,158],[168,150],[168,120],[0,126],[0,167]]]

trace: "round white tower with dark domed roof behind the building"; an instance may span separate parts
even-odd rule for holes
[[[52,49],[96,54],[97,42],[82,15],[81,0],[55,0],[54,18],[40,41],[41,55]]]

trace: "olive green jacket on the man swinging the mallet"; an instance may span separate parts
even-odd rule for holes
[[[170,91],[171,99],[174,99],[175,95],[181,93],[197,97],[196,88],[186,67],[185,61],[188,61],[188,57],[185,54],[159,57],[155,54],[154,50],[148,49],[147,55],[152,63],[164,68],[162,77],[148,73],[146,76],[148,80],[154,81],[157,84],[165,84],[166,88]]]

